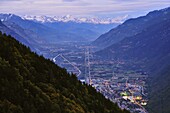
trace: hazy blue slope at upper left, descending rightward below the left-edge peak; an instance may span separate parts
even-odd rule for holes
[[[37,42],[45,42],[57,37],[51,36],[52,33],[54,34],[56,32],[54,29],[50,29],[42,24],[33,21],[23,20],[17,15],[0,14],[0,19],[3,20],[3,23],[13,31],[16,31],[18,29],[23,29],[23,31],[26,31],[25,34],[27,35],[27,37],[29,36],[30,40],[35,39],[36,37]],[[48,36],[51,38],[48,39]]]

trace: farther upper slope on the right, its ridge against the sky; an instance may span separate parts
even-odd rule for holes
[[[150,12],[143,17],[129,19],[118,27],[110,30],[108,33],[101,35],[92,43],[92,45],[98,46],[100,48],[108,47],[123,40],[126,37],[132,37],[141,33],[143,29],[169,19],[170,8]]]

